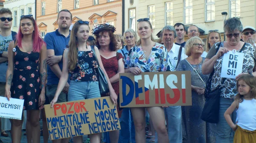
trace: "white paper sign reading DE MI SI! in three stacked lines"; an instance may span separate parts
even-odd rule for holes
[[[223,55],[221,77],[236,79],[242,73],[244,53],[229,51]]]

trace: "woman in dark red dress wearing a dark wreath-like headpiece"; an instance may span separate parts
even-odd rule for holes
[[[121,53],[116,52],[117,41],[114,36],[115,27],[109,24],[97,25],[93,29],[93,34],[96,36],[96,45],[99,48],[102,64],[108,74],[110,83],[114,89],[116,95],[119,95],[119,73],[124,73],[124,63]],[[109,96],[109,95],[102,95]],[[115,97],[117,98],[117,97]],[[119,105],[117,104],[118,117],[121,117],[121,111],[119,111]],[[109,139],[111,143],[118,143],[119,130],[114,130],[109,133]],[[104,133],[103,142],[108,143],[108,133]]]

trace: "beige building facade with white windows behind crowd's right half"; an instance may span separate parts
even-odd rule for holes
[[[133,28],[137,31],[137,20],[150,18],[153,35],[165,25],[177,22],[185,26],[197,25],[201,28],[201,38],[207,36],[209,30],[223,33],[223,17],[240,17],[243,26],[256,27],[256,0],[125,0],[125,30]]]

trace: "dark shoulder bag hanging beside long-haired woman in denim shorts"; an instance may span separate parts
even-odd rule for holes
[[[96,56],[96,52],[94,50],[94,45],[91,46],[91,48],[92,48],[92,51],[93,51],[93,55],[95,56],[95,59],[96,59],[97,63],[99,64],[98,58]],[[109,88],[108,88],[108,80],[107,80],[107,78],[105,76],[105,73],[99,67],[99,65],[98,65],[98,68],[96,68],[96,72],[98,74],[100,94],[106,95],[107,93],[109,93]]]

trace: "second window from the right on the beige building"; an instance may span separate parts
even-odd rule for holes
[[[215,20],[215,0],[206,0],[205,1],[205,21]]]

